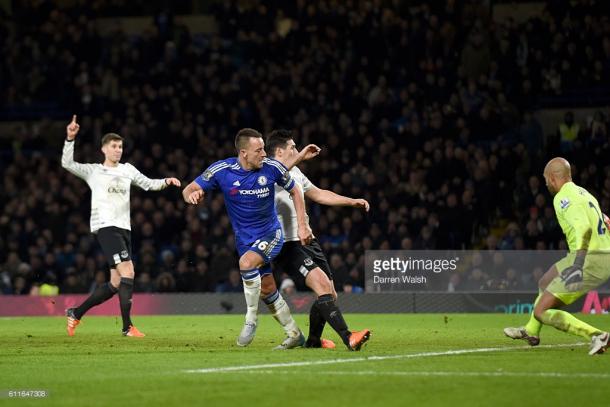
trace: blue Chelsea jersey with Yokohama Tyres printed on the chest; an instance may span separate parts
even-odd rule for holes
[[[286,191],[295,185],[286,167],[270,158],[263,159],[262,168],[256,170],[244,170],[235,157],[217,161],[195,182],[205,192],[222,191],[235,239],[242,244],[251,244],[281,228],[275,210],[274,184]]]

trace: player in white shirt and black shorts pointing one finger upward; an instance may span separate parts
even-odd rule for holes
[[[73,336],[83,315],[117,292],[123,318],[123,335],[144,336],[131,323],[131,297],[134,269],[131,261],[131,221],[129,191],[134,184],[146,191],[160,191],[169,185],[180,186],[176,178],[150,179],[131,164],[121,164],[123,138],[109,133],[102,138],[103,164],[81,164],[74,161],[74,139],[80,126],[76,115],[66,128],[61,166],[87,182],[91,188],[91,233],[97,237],[110,266],[110,282],[98,287],[76,308],[68,308],[68,335]]]

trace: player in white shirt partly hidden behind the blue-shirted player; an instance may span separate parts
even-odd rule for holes
[[[271,132],[267,136],[266,148],[270,157],[285,165],[298,154],[292,134],[287,130]],[[290,176],[300,185],[301,193],[314,202],[329,206],[352,206],[362,208],[367,212],[369,210],[369,203],[364,199],[348,198],[317,188],[296,166],[290,169]],[[368,341],[371,332],[368,329],[354,332],[348,329],[341,310],[336,304],[337,293],[333,284],[333,276],[322,248],[315,238],[305,245],[299,242],[297,218],[292,198],[278,188],[276,188],[275,194],[275,206],[284,231],[285,243],[273,262],[274,269],[286,271],[294,277],[304,278],[305,284],[317,296],[309,313],[309,337],[305,342],[305,347],[335,347],[332,341],[321,337],[324,325],[328,322],[349,350],[360,350],[362,345]],[[305,221],[309,225],[307,213],[305,213]],[[271,304],[278,295],[273,276],[263,276],[261,281],[263,301]]]

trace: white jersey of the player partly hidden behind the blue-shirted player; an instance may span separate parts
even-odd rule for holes
[[[302,195],[310,189],[315,188],[315,185],[297,167],[292,167],[290,176],[301,187]],[[305,199],[304,196],[303,199]],[[275,185],[275,208],[277,210],[277,217],[284,230],[284,241],[299,241],[297,211],[294,208],[294,202],[292,202],[290,193],[277,184]],[[309,224],[307,212],[305,212],[305,221]]]

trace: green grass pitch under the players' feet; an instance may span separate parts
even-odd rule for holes
[[[586,316],[607,330],[608,316]],[[297,322],[307,328],[307,317]],[[544,328],[543,345],[523,348],[502,328],[525,316],[497,314],[347,315],[373,336],[362,352],[272,352],[282,331],[262,316],[248,348],[235,338],[240,316],[135,318],[146,338],[124,338],[117,318],[86,317],[73,338],[64,318],[0,318],[0,390],[45,389],[44,400],[0,398],[0,405],[608,405],[610,355],[590,357],[580,338]],[[454,355],[359,360],[242,371],[216,368],[370,356],[514,347]],[[563,374],[560,376],[559,374]],[[597,374],[599,376],[591,376]],[[589,375],[589,376],[587,376]],[[414,404],[412,404],[414,403]]]

